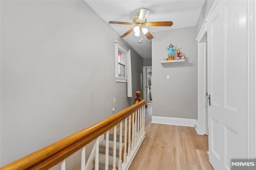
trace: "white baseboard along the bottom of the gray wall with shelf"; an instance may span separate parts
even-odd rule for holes
[[[178,126],[185,126],[185,127],[195,127],[196,122],[197,122],[196,119],[152,116],[151,123],[160,123],[160,124],[166,124],[166,125],[178,125]]]

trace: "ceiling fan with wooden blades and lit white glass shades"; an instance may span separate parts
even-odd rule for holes
[[[142,33],[148,38],[148,40],[151,40],[154,38],[152,34],[148,31],[148,29],[144,28],[144,26],[172,26],[172,21],[162,21],[162,22],[147,22],[147,16],[150,10],[146,8],[141,8],[139,12],[137,12],[137,16],[133,18],[132,22],[117,22],[117,21],[110,21],[109,24],[124,24],[124,25],[132,25],[135,26],[134,28],[128,30],[126,33],[124,33],[120,38],[124,38],[128,34],[130,34],[132,31],[135,32],[135,36],[140,37],[139,43],[142,43]]]

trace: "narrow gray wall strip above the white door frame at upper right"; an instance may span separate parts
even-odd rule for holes
[[[204,5],[201,10],[201,13],[200,13],[197,23],[196,23],[196,35],[199,33],[199,31],[202,27],[202,24],[204,23],[206,16],[212,7],[213,2],[214,2],[214,0],[205,0]]]

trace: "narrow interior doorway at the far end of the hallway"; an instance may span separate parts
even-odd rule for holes
[[[148,105],[152,105],[152,66],[143,67],[143,99],[146,99],[146,107],[148,107]]]

